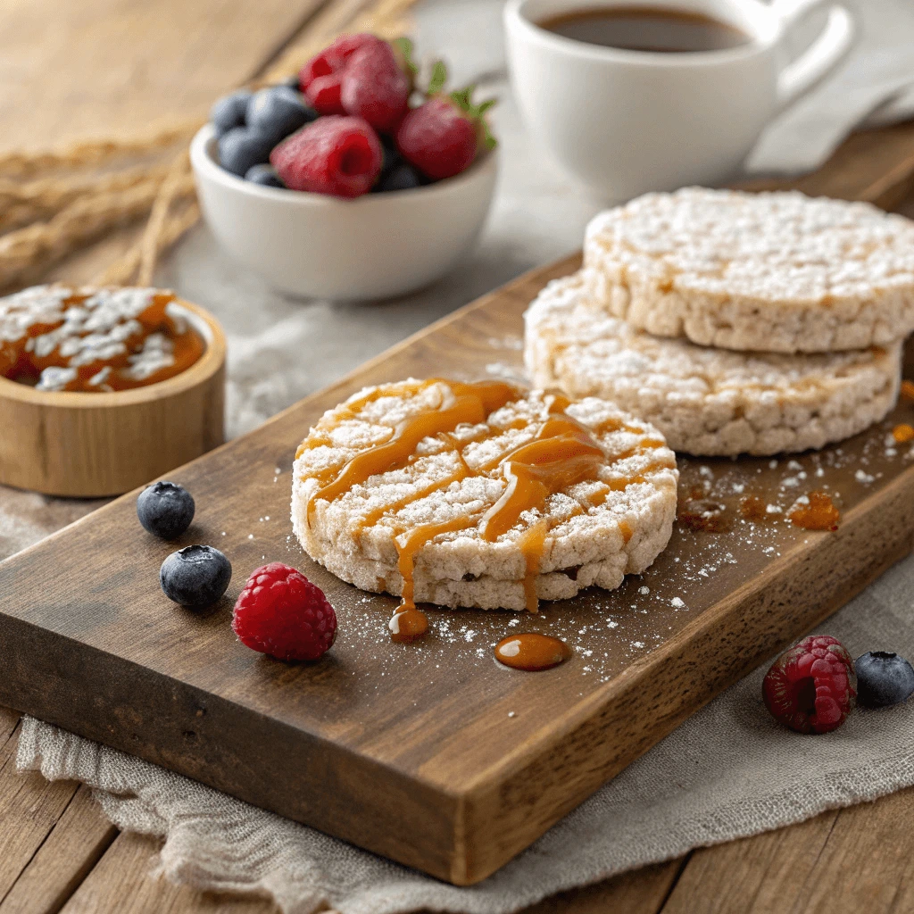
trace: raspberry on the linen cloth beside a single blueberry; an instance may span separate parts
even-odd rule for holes
[[[811,635],[771,664],[761,685],[772,717],[798,733],[828,733],[856,705],[854,661],[829,635]]]

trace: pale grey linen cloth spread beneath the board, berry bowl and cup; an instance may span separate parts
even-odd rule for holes
[[[749,170],[814,167],[857,123],[914,113],[914,5],[854,5],[863,25],[855,53],[832,80],[771,124]],[[494,0],[437,0],[417,15],[420,48],[445,52],[455,84],[475,80],[484,93],[502,97],[495,115],[499,190],[483,243],[461,270],[393,303],[293,302],[239,270],[201,228],[156,277],[217,314],[227,331],[230,435],[255,428],[500,282],[579,248],[599,204],[527,141],[505,85],[500,16]],[[815,26],[810,22],[807,33]],[[94,504],[0,487],[0,557]],[[855,655],[889,649],[912,656],[912,589],[914,559],[908,559],[823,630]],[[914,708],[856,713],[833,734],[802,737],[768,717],[760,701],[763,672],[719,696],[536,845],[469,888],[443,885],[34,720],[24,721],[18,762],[40,766],[48,778],[91,784],[113,822],[165,838],[161,868],[178,882],[271,895],[283,910],[305,914],[324,904],[343,914],[422,907],[495,914],[914,783]]]

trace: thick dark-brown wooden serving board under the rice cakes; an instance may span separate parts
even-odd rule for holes
[[[910,550],[912,445],[887,444],[914,422],[902,400],[877,428],[796,461],[682,460],[683,497],[727,505],[728,529],[678,526],[620,590],[538,617],[430,611],[425,641],[391,643],[396,600],[335,579],[291,536],[295,447],[363,385],[517,370],[526,303],[577,262],[527,274],[170,473],[197,499],[178,545],[214,544],[234,564],[212,611],[165,600],[157,572],[175,545],[139,526],[135,494],[0,564],[0,704],[470,884]],[[837,532],[778,513],[739,520],[749,494],[783,508],[815,488],[842,506]],[[297,565],[335,605],[323,661],[281,664],[232,634],[232,603],[267,560]],[[574,657],[538,674],[496,664],[492,645],[522,631],[557,634]]]

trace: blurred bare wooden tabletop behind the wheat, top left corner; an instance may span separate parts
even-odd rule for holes
[[[7,0],[0,16],[0,151],[151,133],[205,117],[320,0]]]

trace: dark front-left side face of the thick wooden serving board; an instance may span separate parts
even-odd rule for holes
[[[461,857],[454,828],[460,797],[343,746],[326,753],[321,739],[304,730],[88,644],[75,651],[66,635],[2,611],[0,641],[10,661],[0,677],[0,705],[451,878]],[[122,703],[128,694],[129,706]],[[74,707],[85,711],[76,726]],[[337,763],[341,753],[345,764]],[[290,783],[298,785],[295,795],[272,786]],[[323,804],[309,805],[320,795]]]

